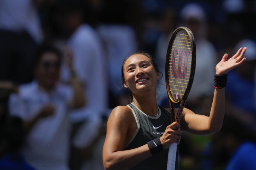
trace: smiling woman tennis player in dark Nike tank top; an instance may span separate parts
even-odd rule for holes
[[[144,52],[128,56],[122,65],[123,86],[131,91],[131,103],[117,106],[110,114],[103,147],[105,169],[166,170],[168,149],[179,143],[181,131],[213,134],[222,127],[227,73],[244,61],[246,47],[216,65],[214,97],[209,116],[184,108],[181,123],[171,123],[169,109],[157,106],[156,85],[160,79],[153,58]],[[177,113],[177,111],[175,112]]]

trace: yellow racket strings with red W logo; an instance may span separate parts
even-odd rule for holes
[[[181,101],[186,91],[192,63],[192,47],[186,31],[175,35],[169,54],[169,89],[174,101]]]

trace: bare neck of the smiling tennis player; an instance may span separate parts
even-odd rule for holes
[[[158,114],[156,92],[143,92],[141,95],[133,94],[133,103],[147,115],[155,116]]]

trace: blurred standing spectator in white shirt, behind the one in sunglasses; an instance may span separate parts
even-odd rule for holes
[[[74,54],[73,67],[82,82],[87,98],[87,105],[81,109],[72,110],[71,119],[73,123],[79,124],[75,127],[73,137],[73,151],[71,151],[71,168],[80,169],[83,162],[90,170],[103,169],[102,157],[97,161],[85,159],[80,154],[87,152],[92,144],[99,140],[101,133],[102,115],[107,109],[107,69],[105,66],[106,54],[104,54],[102,42],[97,32],[88,24],[83,23],[82,1],[64,0],[56,7],[56,23],[62,33],[58,44],[70,46]],[[62,40],[62,42],[61,42]],[[63,67],[61,72],[62,81],[67,81],[70,72]],[[99,145],[98,148],[102,148]],[[89,148],[91,149],[91,148]],[[95,154],[96,151],[91,152]],[[102,155],[102,149],[99,149]],[[93,156],[87,157],[93,159]]]

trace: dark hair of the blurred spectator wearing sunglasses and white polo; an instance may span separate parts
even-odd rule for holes
[[[59,61],[61,61],[61,59],[62,59],[61,51],[58,48],[56,48],[54,45],[52,45],[50,43],[45,43],[38,48],[38,51],[35,55],[34,69],[37,68],[43,54],[46,52],[51,52],[53,54],[56,54],[56,56],[59,58]]]

